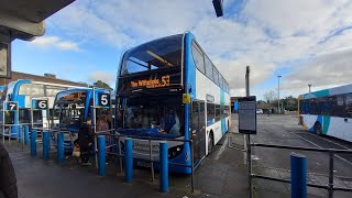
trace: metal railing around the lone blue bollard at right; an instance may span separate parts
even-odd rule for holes
[[[295,150],[295,151],[309,151],[309,152],[321,152],[321,153],[329,153],[329,183],[327,185],[317,185],[307,183],[307,186],[315,187],[315,188],[322,188],[327,189],[329,193],[329,198],[333,197],[334,190],[340,191],[352,191],[352,188],[343,188],[343,187],[336,187],[333,182],[333,165],[334,165],[334,155],[337,153],[349,153],[352,154],[352,150],[334,150],[334,148],[316,148],[316,147],[301,147],[301,146],[286,146],[286,145],[275,145],[275,144],[257,144],[252,143],[250,144],[251,147],[271,147],[271,148],[279,148],[279,150]],[[251,163],[250,163],[251,164]],[[261,179],[267,179],[267,180],[274,180],[274,182],[282,182],[282,183],[288,183],[290,184],[290,180],[277,178],[277,177],[270,177],[258,174],[252,174],[252,166],[249,167],[249,177],[250,183],[252,183],[253,178],[261,178]],[[252,195],[252,188],[250,188],[251,195]]]

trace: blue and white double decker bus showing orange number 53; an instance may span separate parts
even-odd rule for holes
[[[189,174],[230,127],[230,88],[227,80],[187,32],[154,40],[127,51],[117,79],[117,129],[125,135],[193,140],[168,141],[170,172]],[[155,144],[155,145],[154,145]],[[158,143],[153,143],[158,161]],[[135,140],[136,165],[146,165],[148,142]],[[144,160],[144,162],[143,162]]]

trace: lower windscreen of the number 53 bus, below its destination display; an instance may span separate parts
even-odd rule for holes
[[[179,100],[175,96],[129,99],[124,113],[124,128],[157,129],[158,132],[183,135],[184,116]]]

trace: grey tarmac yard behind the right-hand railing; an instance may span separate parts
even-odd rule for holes
[[[257,135],[252,142],[264,144],[280,144],[305,147],[351,148],[352,144],[340,140],[318,136],[304,131],[297,124],[295,116],[258,116]],[[232,144],[240,144],[241,139],[235,136]],[[329,156],[324,153],[298,152],[255,147],[253,160],[254,174],[289,179],[289,156],[292,152],[307,156],[308,183],[327,185]],[[352,156],[341,155],[334,157],[334,183],[338,187],[352,188]],[[255,191],[258,197],[289,197],[289,185],[254,179]],[[327,197],[327,190],[308,188],[309,197]],[[352,193],[334,193],[336,197],[352,197]]]

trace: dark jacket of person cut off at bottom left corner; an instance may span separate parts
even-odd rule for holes
[[[16,198],[18,186],[8,151],[0,143],[0,198]]]

